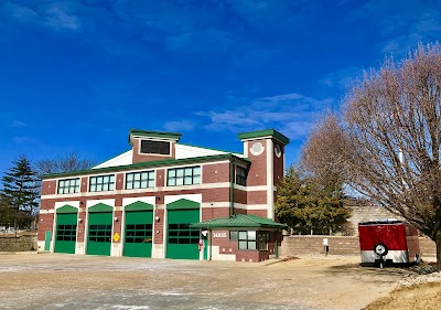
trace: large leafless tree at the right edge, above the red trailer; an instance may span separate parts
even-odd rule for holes
[[[441,46],[365,73],[343,109],[347,181],[432,238],[441,270]]]

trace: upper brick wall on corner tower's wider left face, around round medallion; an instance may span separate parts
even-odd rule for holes
[[[265,151],[259,156],[254,156],[249,151],[255,142],[260,142],[265,148]],[[248,186],[267,184],[267,140],[263,139],[248,141],[248,158],[251,160],[247,178]]]

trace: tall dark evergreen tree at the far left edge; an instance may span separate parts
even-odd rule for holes
[[[39,210],[40,182],[25,156],[13,164],[1,179],[1,200],[9,204],[9,214],[14,214],[15,224],[29,226]]]

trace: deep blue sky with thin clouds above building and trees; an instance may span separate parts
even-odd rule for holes
[[[440,36],[440,1],[0,0],[0,174],[131,128],[232,151],[275,128],[289,164],[363,70]]]

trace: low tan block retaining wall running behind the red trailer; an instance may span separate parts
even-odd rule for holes
[[[358,237],[346,236],[284,236],[280,255],[324,255],[323,238],[327,238],[329,255],[359,255]],[[437,257],[434,242],[420,237],[422,257]]]

